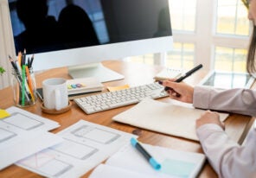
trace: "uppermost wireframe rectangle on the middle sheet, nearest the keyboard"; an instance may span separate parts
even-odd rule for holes
[[[93,142],[103,144],[112,143],[120,137],[117,133],[101,130],[90,125],[82,125],[76,130],[71,131],[71,133],[76,137],[84,137],[86,139],[93,140]]]

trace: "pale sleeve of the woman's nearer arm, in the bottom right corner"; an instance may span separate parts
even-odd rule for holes
[[[256,130],[249,132],[240,146],[217,124],[204,124],[196,130],[202,149],[219,177],[256,177]]]

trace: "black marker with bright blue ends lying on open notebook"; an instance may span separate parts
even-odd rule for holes
[[[159,164],[150,154],[142,147],[140,143],[138,143],[137,139],[134,137],[131,138],[131,145],[138,149],[138,151],[150,162],[150,165],[159,170],[161,168],[161,164]]]

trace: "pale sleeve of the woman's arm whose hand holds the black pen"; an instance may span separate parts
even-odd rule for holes
[[[193,105],[202,109],[256,116],[256,90],[241,88],[223,90],[208,86],[195,86]]]

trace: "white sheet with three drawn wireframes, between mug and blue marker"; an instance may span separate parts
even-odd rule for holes
[[[131,137],[135,137],[84,120],[56,135],[64,139],[64,142],[16,164],[46,177],[80,177],[129,143]]]

